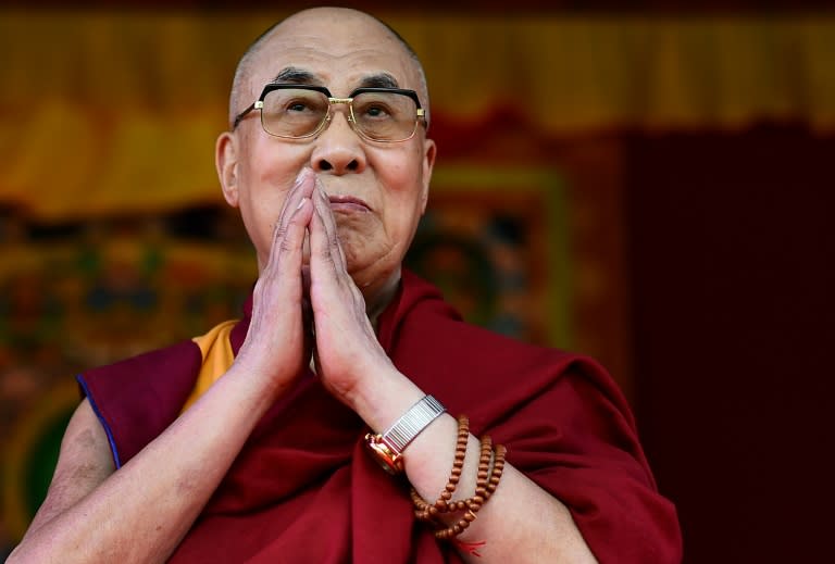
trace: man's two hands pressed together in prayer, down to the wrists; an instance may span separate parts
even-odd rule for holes
[[[324,186],[304,170],[273,230],[236,364],[262,378],[277,398],[302,374],[311,355],[323,385],[349,406],[360,378],[394,369],[348,274]]]

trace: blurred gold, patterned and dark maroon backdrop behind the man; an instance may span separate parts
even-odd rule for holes
[[[828,4],[349,4],[428,76],[439,156],[409,264],[474,323],[611,371],[686,562],[827,560]],[[0,557],[73,376],[238,316],[256,264],[214,139],[240,54],[306,5],[0,8]]]

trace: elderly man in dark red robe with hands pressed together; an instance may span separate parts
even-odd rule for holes
[[[245,316],[79,376],[10,562],[680,560],[608,376],[463,324],[401,271],[436,154],[403,40],[300,12],[245,54],[230,108]]]

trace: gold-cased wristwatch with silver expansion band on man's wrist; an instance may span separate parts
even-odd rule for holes
[[[424,396],[382,435],[365,435],[365,446],[374,460],[391,475],[403,472],[402,452],[438,415],[447,411],[432,396]]]

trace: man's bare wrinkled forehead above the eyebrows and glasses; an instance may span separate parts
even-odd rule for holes
[[[335,96],[369,76],[388,75],[400,88],[418,89],[419,74],[403,46],[378,22],[349,16],[285,21],[253,59],[250,87],[260,91],[287,68],[309,73]]]

